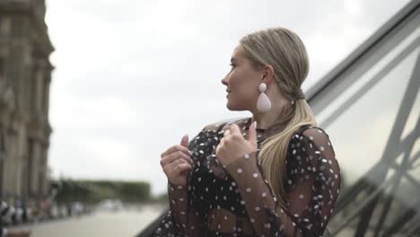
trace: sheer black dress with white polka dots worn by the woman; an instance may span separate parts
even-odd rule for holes
[[[303,126],[290,138],[285,160],[287,203],[281,207],[258,162],[258,151],[223,167],[215,148],[232,123],[248,137],[252,118],[205,127],[190,143],[194,161],[187,186],[168,182],[171,209],[154,236],[322,236],[340,187],[328,135]]]

